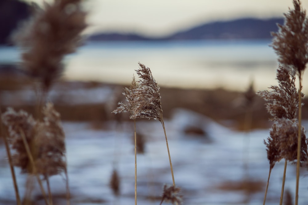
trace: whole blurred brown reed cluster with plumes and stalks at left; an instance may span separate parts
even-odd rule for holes
[[[22,49],[20,67],[31,80],[35,80],[37,114],[8,108],[1,115],[1,135],[4,136],[17,204],[22,203],[18,192],[14,166],[26,173],[28,181],[35,176],[43,199],[51,205],[52,195],[49,178],[64,173],[67,204],[70,194],[67,176],[65,134],[60,114],[46,96],[51,85],[63,73],[63,58],[80,45],[81,32],[86,28],[86,12],[81,0],[55,0],[44,3],[43,8],[33,4],[34,15],[15,32],[13,41]],[[3,125],[6,126],[6,134]],[[11,152],[13,154],[11,155]],[[42,180],[46,180],[48,199]],[[33,186],[26,187],[23,204],[31,201]]]

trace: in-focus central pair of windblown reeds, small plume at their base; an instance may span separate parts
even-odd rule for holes
[[[172,176],[172,186],[164,186],[162,201],[170,201],[173,204],[181,204],[183,196],[181,195],[180,188],[175,185],[173,168],[171,162],[171,156],[168,146],[168,139],[166,135],[164,120],[163,120],[163,109],[160,102],[160,87],[157,85],[155,78],[152,75],[150,68],[139,63],[139,69],[136,70],[139,81],[136,81],[133,76],[131,86],[124,88],[123,95],[126,98],[127,103],[119,102],[119,107],[116,108],[113,113],[129,112],[130,119],[134,120],[135,126],[135,204],[137,204],[137,139],[136,139],[136,118],[153,118],[160,121],[163,126],[165,140],[167,145],[170,170]],[[137,84],[138,83],[138,84]],[[160,204],[161,204],[160,203]]]

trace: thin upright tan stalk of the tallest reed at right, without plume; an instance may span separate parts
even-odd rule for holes
[[[301,160],[301,128],[302,128],[302,73],[299,72],[299,89],[298,89],[298,140],[297,140],[297,164],[296,164],[296,190],[295,205],[298,205],[298,186],[299,186],[299,166]]]

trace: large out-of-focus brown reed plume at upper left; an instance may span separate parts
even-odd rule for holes
[[[80,33],[86,28],[81,0],[55,0],[35,9],[34,16],[14,34],[13,40],[24,51],[22,69],[39,79],[43,90],[63,72],[65,55],[81,45]]]

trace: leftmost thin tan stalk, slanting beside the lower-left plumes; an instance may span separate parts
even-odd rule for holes
[[[0,108],[0,116],[2,115],[1,112],[1,108]],[[1,118],[0,118],[1,120]],[[12,160],[12,155],[10,152],[10,146],[7,142],[7,137],[6,134],[3,133],[3,125],[1,122],[1,135],[3,136],[3,140],[4,140],[4,144],[5,144],[5,148],[6,148],[6,154],[7,157],[9,159],[9,164],[10,164],[10,170],[11,170],[11,174],[12,174],[12,179],[13,179],[13,183],[14,183],[14,190],[15,190],[15,195],[16,195],[16,201],[17,201],[17,205],[21,205],[21,200],[20,200],[20,196],[19,196],[19,191],[18,191],[18,186],[17,186],[17,180],[16,180],[16,175],[15,175],[15,171],[14,171],[14,167],[13,167],[13,160]]]

